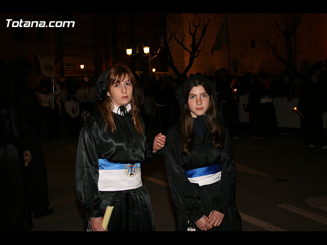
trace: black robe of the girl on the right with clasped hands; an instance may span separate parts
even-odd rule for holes
[[[178,124],[167,134],[165,162],[172,200],[175,205],[178,231],[186,231],[188,222],[196,222],[212,210],[225,214],[220,227],[213,231],[240,231],[241,217],[235,205],[235,159],[229,136],[226,132],[223,148],[212,144],[209,131],[205,128],[203,138],[194,130],[194,146],[189,156],[182,155],[183,141],[178,133]],[[221,180],[199,186],[191,183],[184,171],[215,163],[221,164]],[[196,227],[196,226],[195,226]],[[196,227],[197,230],[199,230]]]

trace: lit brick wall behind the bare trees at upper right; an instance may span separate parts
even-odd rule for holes
[[[242,76],[248,71],[255,73],[260,70],[278,75],[285,69],[283,63],[275,58],[266,38],[272,43],[276,41],[278,54],[286,58],[284,36],[276,28],[275,20],[277,20],[279,27],[284,29],[284,19],[288,20],[288,15],[282,13],[228,13],[229,58],[227,44],[211,55],[211,49],[225,16],[224,13],[167,14],[167,28],[170,28],[172,32],[177,32],[176,37],[180,40],[184,31],[186,47],[189,47],[191,42],[191,36],[188,34],[189,23],[192,25],[193,21],[198,24],[199,18],[201,19],[201,27],[197,32],[198,40],[203,22],[209,20],[201,44],[202,47],[205,43],[204,50],[195,59],[188,76],[196,72],[213,75],[214,71],[221,67],[229,69],[228,59],[230,61],[238,60],[237,70],[230,67],[231,75],[236,76]],[[327,40],[325,38],[327,35],[325,31],[327,30],[327,14],[300,14],[300,16],[301,23],[297,29],[296,38],[298,66],[302,60],[308,60],[310,64],[317,60],[324,60],[327,58],[327,41],[324,41]],[[254,47],[251,47],[251,40],[255,42]],[[189,63],[189,53],[184,51],[175,40],[172,40],[170,47],[175,65],[182,72]],[[173,75],[173,72],[170,71],[170,74]]]

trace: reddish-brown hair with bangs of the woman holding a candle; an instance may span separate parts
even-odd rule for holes
[[[113,84],[120,83],[124,80],[125,77],[128,77],[129,81],[132,83],[133,88],[135,87],[135,78],[131,72],[131,70],[124,65],[116,64],[110,68],[110,71],[107,75],[108,81],[108,91],[110,92],[110,88]],[[131,117],[134,122],[135,129],[140,134],[144,133],[141,119],[139,118],[139,109],[134,100],[134,96],[132,96],[131,104]],[[113,120],[113,103],[111,96],[106,96],[105,99],[98,105],[98,109],[101,111],[103,119],[105,121],[105,130],[109,127],[111,132],[114,133],[116,131],[116,125]]]

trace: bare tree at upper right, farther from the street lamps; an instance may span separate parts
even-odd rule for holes
[[[277,45],[276,41],[274,41],[274,44],[272,44],[268,38],[266,38],[268,44],[272,48],[272,53],[275,55],[276,59],[280,60],[283,62],[283,64],[286,66],[286,68],[290,71],[295,71],[296,70],[296,59],[294,53],[295,48],[293,45],[294,38],[296,38],[296,28],[300,24],[300,16],[298,14],[295,14],[292,17],[291,23],[288,24],[287,21],[285,20],[285,25],[286,28],[282,30],[279,25],[277,20],[275,20],[275,25],[278,28],[278,30],[283,34],[285,41],[286,41],[286,48],[287,48],[287,58],[283,58],[282,56],[278,55],[278,50],[277,50]]]

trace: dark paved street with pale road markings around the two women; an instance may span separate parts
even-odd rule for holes
[[[48,142],[42,137],[55,213],[34,218],[33,231],[83,230],[84,209],[75,192],[77,139],[69,139],[64,127],[60,138]],[[327,231],[327,151],[305,148],[301,132],[294,129],[267,140],[252,140],[243,131],[232,144],[243,231]],[[142,175],[156,231],[175,231],[164,159],[155,157]]]

